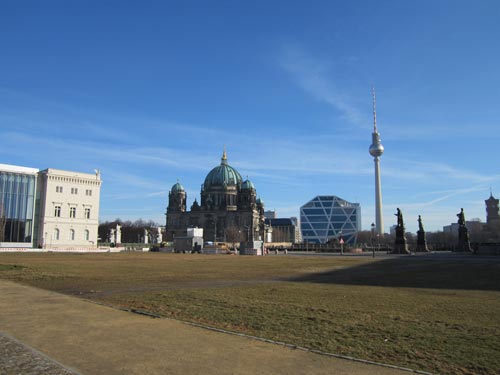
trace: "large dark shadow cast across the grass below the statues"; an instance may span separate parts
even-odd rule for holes
[[[404,256],[307,274],[290,281],[500,291],[500,257]]]

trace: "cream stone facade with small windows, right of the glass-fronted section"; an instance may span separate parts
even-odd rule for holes
[[[38,240],[44,248],[97,246],[101,176],[45,169],[39,173]]]

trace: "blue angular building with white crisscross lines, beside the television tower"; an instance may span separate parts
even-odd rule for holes
[[[354,245],[361,230],[361,207],[334,195],[320,195],[300,208],[304,242],[327,243],[340,236]]]

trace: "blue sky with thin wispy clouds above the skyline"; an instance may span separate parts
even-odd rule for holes
[[[164,223],[220,163],[267,209],[337,195],[385,230],[500,196],[500,2],[2,1],[0,163],[103,178],[101,219]]]

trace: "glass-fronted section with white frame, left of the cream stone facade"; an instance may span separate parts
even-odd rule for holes
[[[0,164],[0,246],[33,242],[38,169]]]

